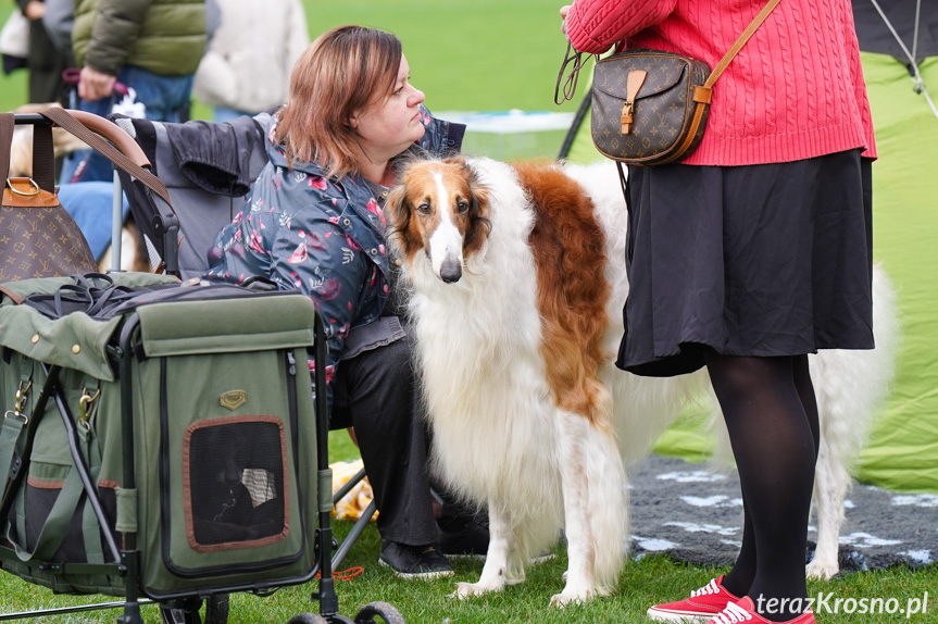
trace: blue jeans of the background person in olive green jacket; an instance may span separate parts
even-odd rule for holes
[[[154,122],[182,122],[192,93],[191,74],[186,76],[159,76],[140,67],[126,66],[117,75],[117,82],[137,92],[137,101],[147,107],[147,118]],[[78,108],[102,117],[110,114],[118,101],[116,93],[93,102],[82,100]],[[85,163],[79,171],[79,164]],[[82,150],[70,154],[62,165],[60,182],[111,182],[114,179],[111,161],[93,150]],[[77,179],[76,178],[77,174]]]

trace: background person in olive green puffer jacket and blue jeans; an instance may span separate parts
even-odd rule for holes
[[[147,118],[186,121],[207,41],[205,0],[75,0],[79,108],[107,116],[123,85]],[[92,152],[70,159],[62,183],[112,177],[110,163]]]

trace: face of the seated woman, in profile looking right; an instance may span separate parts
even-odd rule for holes
[[[396,157],[424,136],[420,109],[424,93],[408,82],[410,72],[408,60],[401,54],[401,66],[390,97],[379,99],[352,115],[352,127],[365,154],[372,160]]]

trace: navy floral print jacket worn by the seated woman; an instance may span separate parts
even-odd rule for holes
[[[427,132],[412,149],[459,151],[464,127],[423,112]],[[295,162],[290,171],[275,135],[276,120],[267,133],[271,162],[243,210],[215,238],[205,277],[241,283],[260,275],[282,290],[309,294],[326,322],[332,382],[350,332],[385,310],[391,287],[382,212],[387,190],[357,174],[328,178],[316,163]],[[388,344],[403,336],[400,327],[395,320],[366,334],[375,345]],[[366,348],[359,345],[355,352]]]

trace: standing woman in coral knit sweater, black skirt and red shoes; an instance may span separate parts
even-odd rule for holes
[[[715,66],[763,0],[576,0],[573,47]],[[808,513],[818,446],[808,353],[871,349],[873,126],[849,0],[783,0],[714,88],[681,163],[629,167],[626,332],[617,364],[706,366],[745,509],[731,571],[654,620],[813,623]]]

